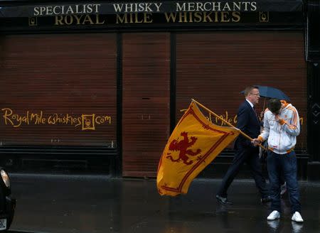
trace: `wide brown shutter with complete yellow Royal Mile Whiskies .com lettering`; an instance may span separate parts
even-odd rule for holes
[[[115,34],[2,36],[1,144],[115,147],[116,42]]]

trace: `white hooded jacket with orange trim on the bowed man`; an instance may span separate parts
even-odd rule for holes
[[[274,153],[284,154],[292,151],[300,133],[299,114],[292,104],[280,110],[279,119],[269,109],[265,110],[264,129],[258,139],[268,139],[268,147]]]

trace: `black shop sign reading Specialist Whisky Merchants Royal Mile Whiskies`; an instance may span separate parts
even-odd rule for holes
[[[278,1],[277,1],[278,2]],[[0,30],[13,27],[93,28],[223,26],[302,21],[301,1],[137,1],[117,3],[46,4],[0,9]],[[287,16],[286,13],[290,13]],[[300,17],[298,15],[301,15]]]

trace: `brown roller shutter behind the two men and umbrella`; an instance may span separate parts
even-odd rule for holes
[[[240,91],[247,85],[277,87],[287,93],[303,119],[297,148],[306,150],[303,32],[179,33],[176,40],[176,121],[180,110],[195,98],[224,118],[228,113],[235,124],[244,100]],[[264,104],[261,98],[257,110]]]

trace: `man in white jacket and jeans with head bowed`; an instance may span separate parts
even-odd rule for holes
[[[289,190],[292,221],[304,222],[299,201],[297,158],[294,146],[300,133],[299,114],[292,104],[270,99],[264,114],[264,129],[253,143],[267,140],[267,169],[270,179],[271,210],[267,220],[277,220],[281,212],[280,176],[283,173]]]

